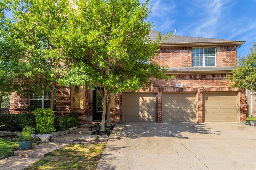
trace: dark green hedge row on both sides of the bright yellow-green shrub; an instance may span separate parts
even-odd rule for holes
[[[68,130],[78,126],[78,120],[71,116],[54,116],[56,131]],[[23,127],[33,126],[36,128],[34,114],[4,114],[0,115],[0,131],[22,131]],[[37,132],[38,133],[38,132]]]

